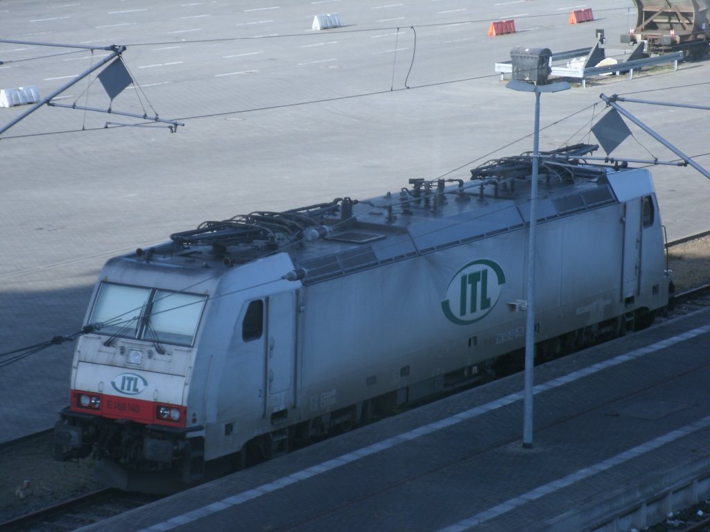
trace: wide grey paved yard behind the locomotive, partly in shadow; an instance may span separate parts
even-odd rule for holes
[[[635,18],[628,4],[596,2],[594,23],[570,25],[572,6],[554,0],[485,9],[464,0],[3,1],[3,38],[127,45],[141,92],[126,89],[112,108],[185,127],[104,128],[136,121],[44,107],[1,136],[0,352],[77,331],[111,255],[207,219],[369,197],[411,177],[466,178],[490,157],[530,150],[533,97],[505,89],[494,62],[520,45],[591,45],[596,28],[608,55],[623,54],[618,35]],[[315,14],[334,11],[342,29],[310,30]],[[488,37],[500,18],[513,18],[518,33]],[[50,94],[104,53],[0,44],[1,83]],[[600,92],[706,104],[708,67],[545,95],[541,148],[594,141]],[[61,101],[109,106],[94,77]],[[710,166],[703,111],[628,108]],[[0,109],[0,123],[21,111]],[[632,131],[623,155],[676,158]],[[665,166],[654,174],[670,239],[710,228],[704,177]],[[1,368],[0,441],[52,425],[71,355],[65,344]]]

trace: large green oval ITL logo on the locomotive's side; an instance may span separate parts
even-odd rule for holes
[[[452,323],[470,325],[485,318],[501,297],[506,275],[496,262],[474,260],[461,268],[449,282],[442,311]]]

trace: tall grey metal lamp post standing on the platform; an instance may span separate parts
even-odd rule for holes
[[[515,49],[514,49],[515,50]],[[528,51],[530,49],[526,49]],[[549,51],[549,50],[548,50]],[[513,52],[511,52],[513,56]],[[515,57],[513,57],[515,64]],[[543,70],[549,65],[545,62]],[[513,67],[515,75],[515,66]],[[530,71],[525,78],[530,79]],[[533,367],[535,364],[535,226],[537,226],[537,172],[540,167],[540,94],[543,92],[559,92],[569,89],[569,83],[557,82],[549,85],[540,84],[540,77],[533,74],[537,82],[525,82],[523,79],[511,79],[506,87],[522,92],[535,93],[535,134],[532,140],[532,177],[530,178],[530,231],[528,239],[528,294],[525,314],[525,392],[523,399],[523,448],[532,448],[532,387]],[[543,76],[547,80],[547,74]]]

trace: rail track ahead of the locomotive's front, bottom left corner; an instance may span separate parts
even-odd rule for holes
[[[159,496],[104,488],[0,523],[0,532],[70,532],[144,504]]]

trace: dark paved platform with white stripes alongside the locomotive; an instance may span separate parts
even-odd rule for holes
[[[82,528],[625,531],[710,494],[710,310]]]

